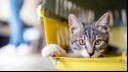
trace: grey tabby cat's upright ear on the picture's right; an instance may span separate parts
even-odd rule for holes
[[[96,23],[95,23],[95,27],[103,32],[109,32],[110,30],[110,13],[107,12],[105,13]]]

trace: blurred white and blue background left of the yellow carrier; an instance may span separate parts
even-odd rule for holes
[[[0,71],[54,70],[41,56],[45,40],[36,9],[42,2],[0,0]]]

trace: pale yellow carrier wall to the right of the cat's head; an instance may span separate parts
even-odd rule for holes
[[[127,26],[112,27],[109,43],[118,48],[127,48]]]

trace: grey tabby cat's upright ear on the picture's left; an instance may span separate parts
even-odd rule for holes
[[[69,15],[68,23],[69,23],[69,31],[72,34],[78,34],[83,27],[83,24],[81,23],[81,21],[79,21],[74,14]]]

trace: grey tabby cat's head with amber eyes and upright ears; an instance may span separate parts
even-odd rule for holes
[[[82,51],[86,50],[89,56],[106,49],[109,40],[110,14],[105,13],[93,24],[83,24],[78,18],[70,14],[70,47]]]

